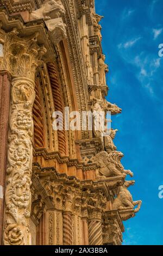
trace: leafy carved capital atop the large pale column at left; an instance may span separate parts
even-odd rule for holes
[[[0,43],[3,45],[3,57],[0,57],[2,70],[8,70],[12,77],[26,77],[34,81],[35,70],[41,63],[46,48],[37,45],[37,36],[18,36],[17,29],[5,33],[0,30]]]

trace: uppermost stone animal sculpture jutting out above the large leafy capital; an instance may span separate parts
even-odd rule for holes
[[[65,14],[65,8],[61,3],[61,0],[45,0],[41,8],[32,11],[30,14],[32,20],[38,19],[56,19],[61,14]]]

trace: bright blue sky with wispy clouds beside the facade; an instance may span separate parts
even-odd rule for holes
[[[141,210],[124,222],[124,245],[163,245],[163,44],[162,0],[96,0],[103,52],[109,64],[107,99],[122,107],[112,118],[117,149],[134,172],[129,190]],[[129,177],[128,177],[129,179]]]

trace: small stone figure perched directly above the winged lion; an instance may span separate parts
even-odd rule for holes
[[[110,135],[104,136],[104,148],[105,151],[110,154],[111,151],[116,151],[117,148],[113,142],[113,139],[115,138],[116,132],[118,131],[117,129],[109,129],[110,130]]]

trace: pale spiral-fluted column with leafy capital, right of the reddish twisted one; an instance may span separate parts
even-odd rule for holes
[[[90,195],[89,200],[89,245],[103,245],[102,212],[106,203],[102,193]]]

